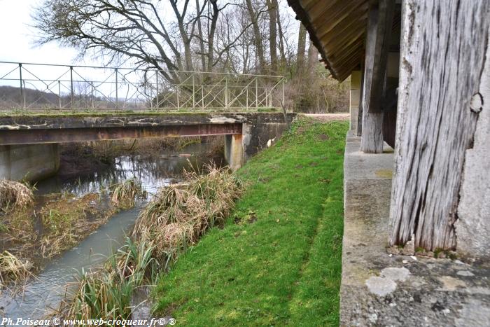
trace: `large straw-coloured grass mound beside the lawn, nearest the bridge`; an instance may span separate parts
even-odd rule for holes
[[[215,165],[201,174],[185,171],[184,182],[159,190],[137,220],[133,236],[151,242],[158,256],[174,256],[223,220],[241,193],[241,183]]]

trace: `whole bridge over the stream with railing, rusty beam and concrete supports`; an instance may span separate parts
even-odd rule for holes
[[[0,178],[42,179],[58,144],[223,135],[231,169],[293,120],[284,78],[0,62]]]

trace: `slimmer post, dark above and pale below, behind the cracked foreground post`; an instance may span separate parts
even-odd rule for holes
[[[360,150],[383,152],[383,99],[386,60],[393,23],[394,1],[374,1],[367,19],[366,53],[363,84],[363,130]]]

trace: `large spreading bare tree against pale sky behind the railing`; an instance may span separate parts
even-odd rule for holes
[[[238,36],[226,44],[215,43],[218,20],[229,4],[218,0],[44,0],[33,18],[42,33],[40,43],[58,41],[78,48],[82,55],[97,53],[109,58],[108,64],[130,57],[137,67],[155,67],[168,81],[177,81],[179,76],[172,71],[193,71],[193,55],[200,55],[202,69],[213,71],[223,54],[235,46]]]

